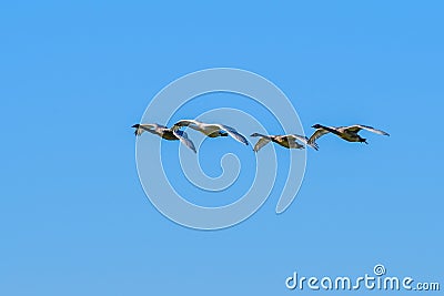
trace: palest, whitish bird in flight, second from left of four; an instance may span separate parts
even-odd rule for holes
[[[245,136],[240,134],[234,127],[231,127],[231,126],[228,126],[224,124],[203,123],[203,122],[200,122],[196,120],[181,120],[181,121],[178,121],[176,123],[174,123],[174,125],[171,127],[171,130],[176,131],[182,126],[188,126],[188,127],[199,131],[210,137],[229,136],[230,135],[238,142],[249,145],[249,141],[245,139]]]

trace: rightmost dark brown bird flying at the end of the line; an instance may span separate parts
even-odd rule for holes
[[[327,134],[327,133],[333,133],[333,134],[337,135],[339,137],[341,137],[345,141],[349,141],[349,142],[361,142],[361,143],[365,143],[365,144],[369,144],[366,139],[361,137],[357,134],[361,130],[366,130],[372,133],[382,134],[382,135],[390,135],[389,133],[386,133],[384,131],[376,130],[372,126],[362,125],[362,124],[355,124],[355,125],[350,125],[350,126],[339,126],[339,127],[314,124],[312,127],[316,129],[316,131],[312,134],[312,136],[310,136],[309,144],[314,144],[317,139],[320,139],[321,136],[323,136],[324,134]]]

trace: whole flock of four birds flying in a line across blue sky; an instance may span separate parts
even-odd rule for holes
[[[143,132],[149,132],[159,135],[165,140],[179,140],[181,141],[181,143],[183,143],[185,146],[196,153],[193,142],[188,137],[188,134],[184,131],[180,130],[183,126],[188,126],[192,130],[199,131],[210,137],[231,136],[238,142],[241,142],[245,145],[250,144],[245,136],[240,134],[235,129],[231,126],[218,123],[203,123],[196,120],[181,120],[174,123],[172,127],[167,127],[157,123],[134,124],[131,127],[135,129],[135,135],[141,135]],[[361,137],[357,134],[361,130],[366,130],[376,134],[389,135],[389,133],[384,131],[362,124],[339,127],[314,124],[312,127],[316,129],[316,131],[310,137],[299,134],[264,135],[260,133],[253,133],[250,136],[260,137],[253,150],[254,152],[258,152],[270,142],[274,142],[286,149],[304,149],[305,145],[309,145],[312,149],[317,150],[319,146],[316,144],[316,140],[327,133],[335,134],[349,142],[361,142],[365,144],[369,144],[366,142],[366,139]]]

